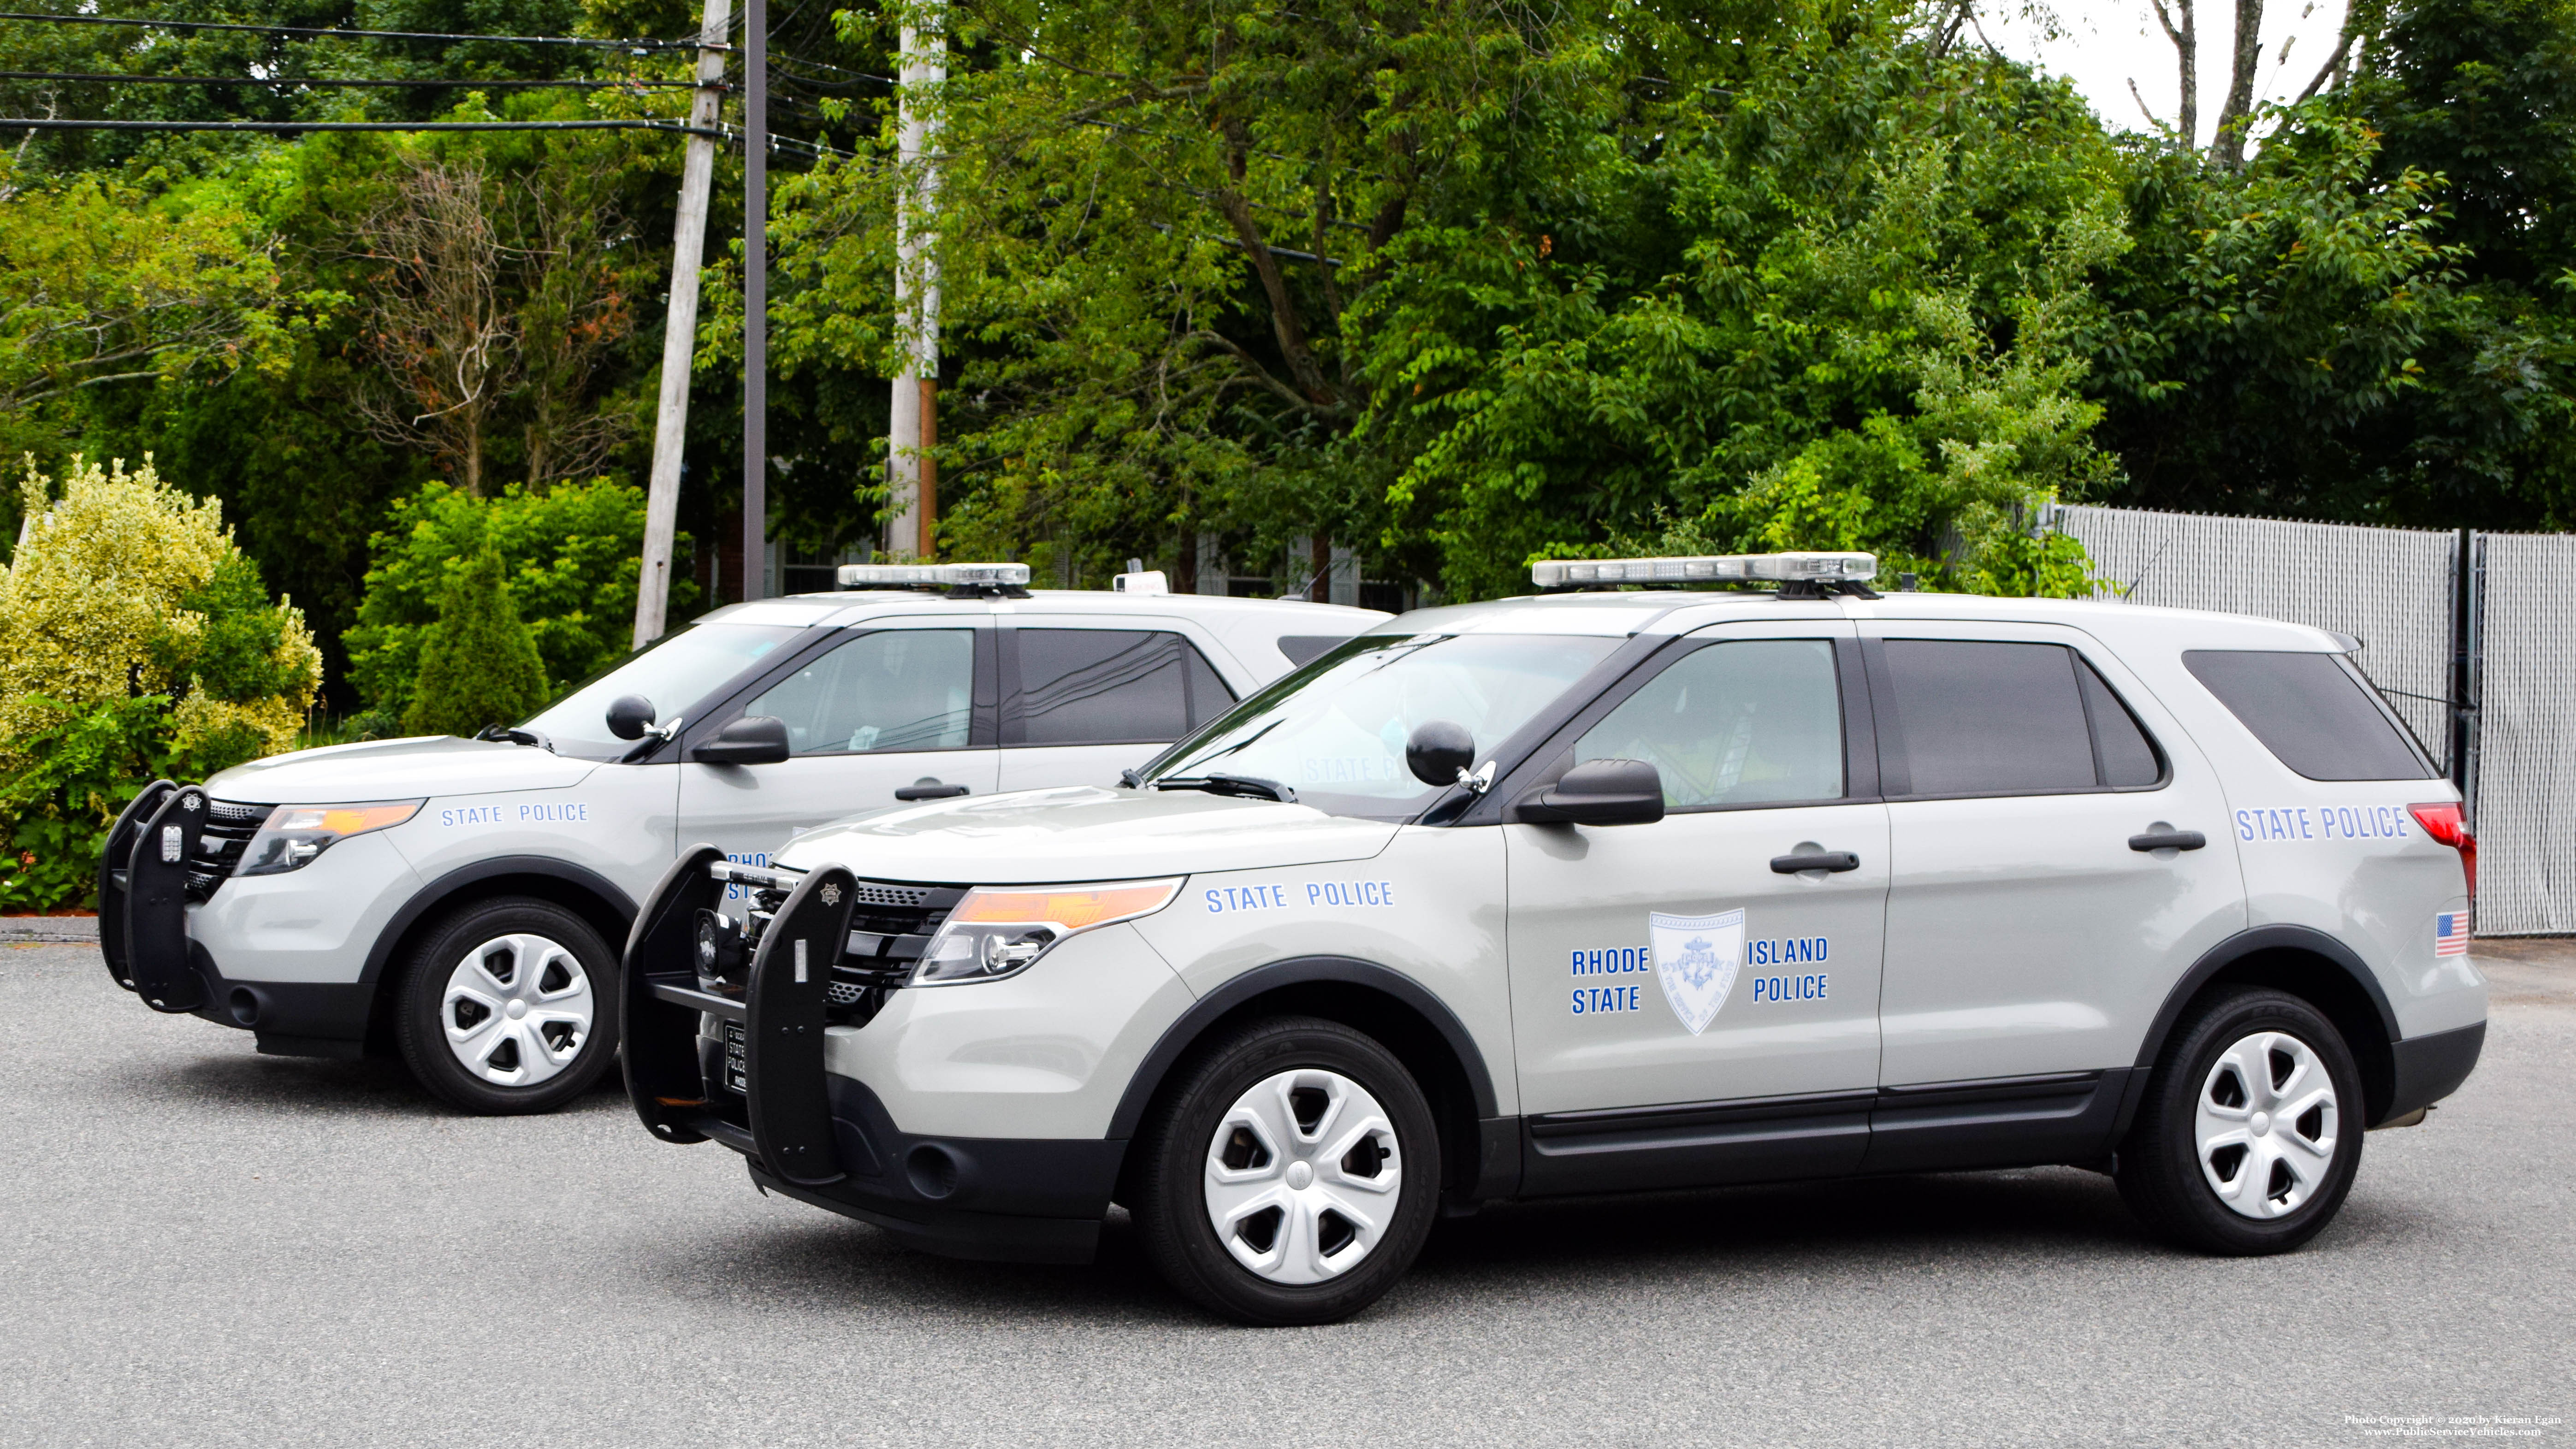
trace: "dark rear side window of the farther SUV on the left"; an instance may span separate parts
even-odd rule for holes
[[[1020,744],[1151,744],[1234,705],[1177,633],[1020,628]]]

